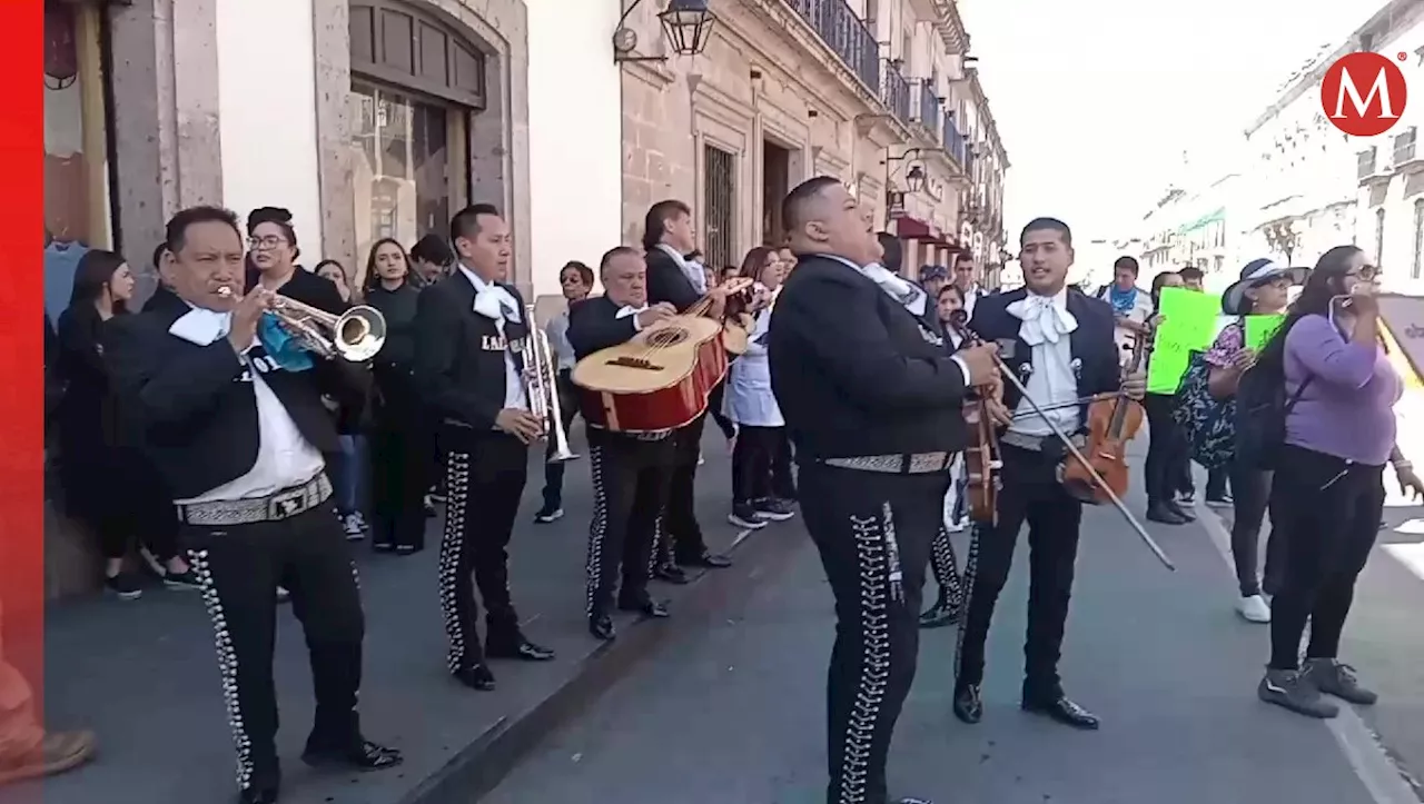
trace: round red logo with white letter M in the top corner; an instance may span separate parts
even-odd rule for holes
[[[1407,61],[1408,54],[1397,58]],[[1404,70],[1380,53],[1341,55],[1320,80],[1326,120],[1351,137],[1377,137],[1394,128],[1407,100]]]

